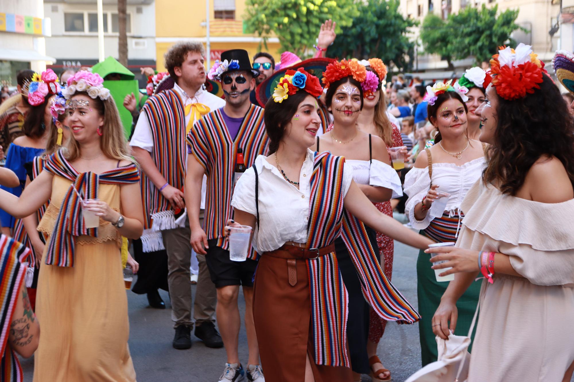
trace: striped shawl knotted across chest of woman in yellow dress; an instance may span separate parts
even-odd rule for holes
[[[134,163],[131,163],[101,174],[92,172],[80,174],[64,158],[61,150],[48,157],[45,170],[72,181],[62,200],[56,226],[50,236],[46,264],[73,267],[75,236],[98,237],[98,228],[86,228],[84,224],[80,196],[84,200],[98,198],[100,183],[117,185],[137,183],[139,182],[139,170]]]

